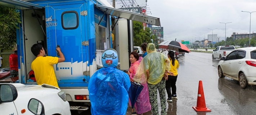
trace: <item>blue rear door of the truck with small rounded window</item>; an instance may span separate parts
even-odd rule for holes
[[[89,82],[86,9],[86,3],[45,8],[48,55],[57,56],[59,45],[66,59],[54,65],[59,87]]]

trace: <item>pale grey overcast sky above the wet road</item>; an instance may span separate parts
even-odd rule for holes
[[[137,0],[136,0],[137,1]],[[250,13],[256,11],[256,0],[148,0],[153,17],[160,18],[165,40],[189,41],[195,35],[217,34],[221,40],[233,32],[249,33]],[[207,29],[210,28],[210,29]],[[256,32],[256,12],[251,15],[251,33]],[[199,33],[202,32],[202,33]],[[166,36],[166,37],[165,37]],[[195,39],[193,39],[194,42]],[[198,37],[196,38],[198,40]]]

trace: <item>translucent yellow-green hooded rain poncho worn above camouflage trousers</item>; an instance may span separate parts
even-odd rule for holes
[[[148,54],[142,59],[139,68],[133,78],[135,82],[149,84],[159,83],[165,70],[170,70],[170,60],[164,54],[157,52],[153,43],[147,45]],[[149,78],[147,79],[146,71],[149,70]]]

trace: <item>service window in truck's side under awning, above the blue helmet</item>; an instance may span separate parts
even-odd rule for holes
[[[105,50],[106,32],[105,28],[95,24],[96,50]]]

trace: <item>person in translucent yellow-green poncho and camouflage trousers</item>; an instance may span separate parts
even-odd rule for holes
[[[161,115],[167,115],[165,82],[171,69],[170,60],[164,54],[157,52],[153,43],[147,45],[147,55],[141,61],[139,68],[133,78],[135,82],[148,83],[149,101],[153,115],[158,115],[157,89],[160,94]]]

